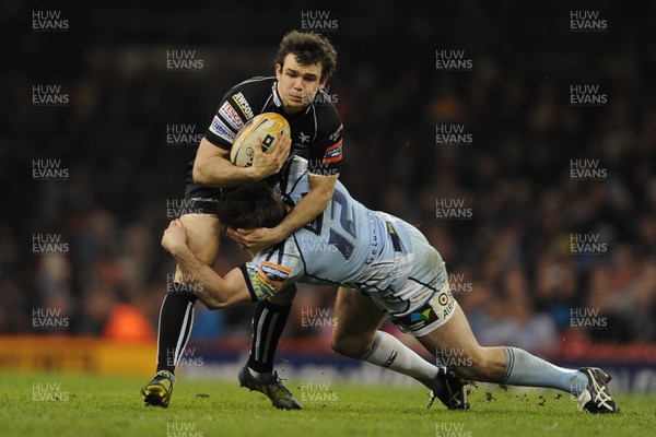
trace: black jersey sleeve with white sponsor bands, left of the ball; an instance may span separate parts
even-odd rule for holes
[[[246,81],[225,93],[206,132],[207,140],[229,151],[237,132],[255,117],[253,106],[258,97],[258,91],[251,81]]]

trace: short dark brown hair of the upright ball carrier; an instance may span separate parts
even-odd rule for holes
[[[337,69],[337,51],[323,35],[314,32],[289,32],[280,42],[274,63],[284,64],[284,58],[293,54],[302,66],[321,66],[321,81],[327,80]]]

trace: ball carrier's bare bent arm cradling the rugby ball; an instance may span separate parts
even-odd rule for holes
[[[259,147],[255,147],[253,165],[238,167],[230,162],[229,151],[215,146],[203,137],[194,161],[194,181],[224,188],[261,180],[280,170],[290,153],[291,143],[289,137],[284,138],[271,153],[263,153],[260,143]]]

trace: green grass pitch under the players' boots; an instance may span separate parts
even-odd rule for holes
[[[235,381],[180,378],[171,406],[144,408],[143,378],[62,374],[0,375],[0,434],[58,436],[654,436],[656,395],[614,393],[622,412],[582,414],[569,395],[552,390],[480,386],[471,410],[426,410],[422,387],[330,383],[329,391],[288,387],[308,401],[303,411],[279,411]],[[35,394],[35,387],[37,389]],[[50,390],[50,391],[48,391]],[[34,400],[43,398],[44,401]],[[57,400],[56,398],[60,398]]]

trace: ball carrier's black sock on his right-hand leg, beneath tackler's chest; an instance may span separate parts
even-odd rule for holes
[[[291,308],[291,305],[274,305],[268,299],[257,304],[253,315],[248,367],[258,374],[273,371],[276,349]]]

